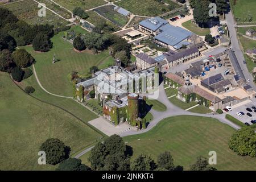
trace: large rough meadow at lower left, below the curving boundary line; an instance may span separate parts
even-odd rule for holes
[[[47,138],[63,140],[72,148],[72,155],[102,137],[71,114],[28,96],[6,73],[0,72],[0,77],[2,170],[55,169],[37,163],[40,144]]]

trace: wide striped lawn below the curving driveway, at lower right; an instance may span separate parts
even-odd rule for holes
[[[229,149],[228,141],[235,131],[213,118],[183,115],[163,119],[147,133],[123,140],[133,147],[132,160],[142,152],[156,160],[161,152],[170,151],[175,165],[188,170],[197,156],[208,158],[209,151],[216,151],[214,167],[218,170],[256,170],[256,159],[238,156]]]

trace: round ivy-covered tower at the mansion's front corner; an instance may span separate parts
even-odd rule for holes
[[[128,118],[131,126],[136,126],[139,115],[139,95],[130,93],[128,96]]]

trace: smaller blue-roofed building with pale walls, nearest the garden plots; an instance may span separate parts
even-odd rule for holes
[[[159,28],[166,24],[168,24],[168,21],[159,17],[144,19],[139,22],[139,30],[156,36]]]

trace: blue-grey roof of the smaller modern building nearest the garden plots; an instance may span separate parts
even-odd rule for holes
[[[150,19],[144,19],[139,24],[149,30],[156,31],[158,28],[162,27],[164,24],[167,24],[167,20],[155,17]]]

